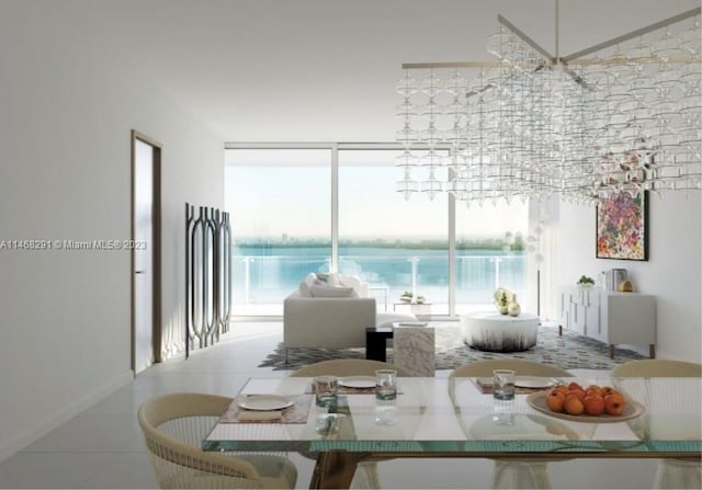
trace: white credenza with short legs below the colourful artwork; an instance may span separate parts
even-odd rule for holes
[[[558,334],[563,328],[609,344],[648,345],[656,356],[656,297],[601,287],[558,288]]]

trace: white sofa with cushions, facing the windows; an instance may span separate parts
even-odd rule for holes
[[[416,319],[376,314],[375,298],[367,297],[367,283],[354,276],[329,276],[324,285],[316,274],[309,274],[283,301],[285,361],[291,347],[363,347],[366,328]]]

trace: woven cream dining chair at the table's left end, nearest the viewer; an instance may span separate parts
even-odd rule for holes
[[[285,457],[202,451],[202,440],[231,401],[170,394],[139,407],[137,419],[160,488],[295,488],[297,469]]]

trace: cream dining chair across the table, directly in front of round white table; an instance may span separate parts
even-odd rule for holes
[[[558,366],[509,358],[464,364],[453,369],[449,377],[491,377],[495,369],[513,369],[517,376],[573,377]],[[492,488],[551,488],[546,463],[546,459],[495,459]]]

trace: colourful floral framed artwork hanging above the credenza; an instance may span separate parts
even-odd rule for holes
[[[597,205],[597,258],[648,260],[648,192],[620,192]]]

